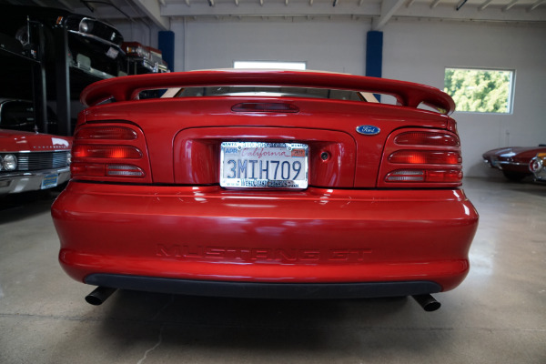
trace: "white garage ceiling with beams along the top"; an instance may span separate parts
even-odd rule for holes
[[[180,17],[347,17],[371,19],[381,30],[392,19],[546,25],[546,0],[0,0],[2,4],[65,8],[102,20],[142,21],[167,30]]]

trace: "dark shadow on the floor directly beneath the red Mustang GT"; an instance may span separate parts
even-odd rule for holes
[[[318,350],[383,347],[393,340],[392,345],[412,349],[397,336],[410,338],[407,320],[430,315],[410,298],[200,298],[123,290],[110,299],[101,338],[119,345],[130,341],[153,347],[161,342],[163,355],[165,350],[195,350],[213,360],[220,359],[213,352],[261,355],[276,350],[313,357]]]

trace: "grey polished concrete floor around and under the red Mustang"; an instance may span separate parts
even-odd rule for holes
[[[118,291],[56,261],[53,197],[0,199],[0,363],[546,363],[546,186],[467,179],[463,284],[412,299],[277,301]]]

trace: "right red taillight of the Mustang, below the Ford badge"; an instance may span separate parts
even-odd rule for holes
[[[446,130],[399,130],[391,134],[378,187],[457,187],[462,181],[459,136]]]

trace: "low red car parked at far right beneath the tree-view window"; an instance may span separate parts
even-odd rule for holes
[[[492,149],[483,154],[483,162],[491,168],[497,168],[502,171],[504,177],[511,181],[521,181],[521,179],[531,176],[529,163],[531,158],[537,153],[546,152],[546,146],[539,147],[502,147]]]

